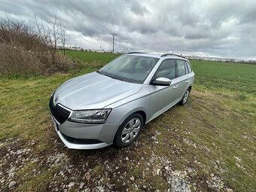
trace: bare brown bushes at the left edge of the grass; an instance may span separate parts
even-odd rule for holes
[[[9,18],[0,21],[0,75],[67,72],[78,65],[58,52],[65,47],[61,26],[29,26]],[[64,40],[63,40],[64,39]]]

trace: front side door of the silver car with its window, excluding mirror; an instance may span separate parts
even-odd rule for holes
[[[149,89],[151,91],[151,119],[154,119],[154,117],[162,114],[177,102],[179,95],[175,89],[178,88],[178,81],[177,78],[175,79],[175,77],[175,60],[165,59],[157,69],[153,80],[157,78],[169,78],[172,80],[172,83],[166,86],[154,84],[149,85]]]

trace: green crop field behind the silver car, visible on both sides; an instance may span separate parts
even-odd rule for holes
[[[69,51],[67,55],[89,64],[96,63],[97,67],[101,67],[120,56],[120,54],[113,53],[84,51]],[[191,60],[190,62],[197,75],[197,87],[211,90],[233,90],[239,93],[251,93],[256,96],[256,65],[200,60]]]

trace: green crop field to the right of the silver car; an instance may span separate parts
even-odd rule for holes
[[[203,89],[233,90],[256,96],[256,65],[229,62],[190,61],[197,85]]]

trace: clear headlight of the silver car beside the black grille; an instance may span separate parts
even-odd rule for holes
[[[111,108],[73,111],[70,121],[76,123],[105,123]]]

